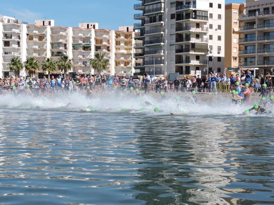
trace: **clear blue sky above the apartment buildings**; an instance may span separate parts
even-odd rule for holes
[[[78,23],[81,22],[98,22],[99,28],[118,30],[118,26],[139,22],[133,19],[133,15],[139,13],[133,9],[133,5],[137,3],[140,1],[12,0],[1,2],[0,13],[5,16],[15,16],[16,19],[27,21],[29,24],[34,24],[35,19],[46,18],[55,20],[56,26],[78,27]],[[227,3],[243,3],[243,1],[226,0]]]

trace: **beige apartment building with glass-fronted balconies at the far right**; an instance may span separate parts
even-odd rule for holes
[[[272,72],[274,66],[274,2],[247,0],[240,11],[239,66],[260,75]]]

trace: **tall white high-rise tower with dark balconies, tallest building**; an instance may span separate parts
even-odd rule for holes
[[[143,0],[134,9],[135,57],[155,75],[224,73],[224,0]],[[137,67],[135,67],[137,69]]]

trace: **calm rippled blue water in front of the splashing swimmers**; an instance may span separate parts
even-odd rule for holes
[[[274,204],[273,118],[0,110],[0,204]]]

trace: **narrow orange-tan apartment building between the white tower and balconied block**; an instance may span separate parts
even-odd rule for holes
[[[242,33],[238,28],[242,22],[238,21],[238,15],[245,8],[246,4],[226,4],[225,5],[225,68],[228,68],[226,74],[234,74],[238,68],[238,39],[242,38]],[[231,69],[232,68],[232,69]],[[235,70],[233,70],[235,68]]]

